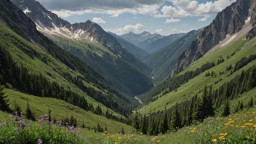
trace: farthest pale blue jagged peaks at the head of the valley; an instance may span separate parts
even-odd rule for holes
[[[157,33],[149,33],[148,31],[144,31],[143,33],[133,33],[133,32],[129,32],[126,34],[123,34],[120,36],[122,39],[129,41],[132,44],[139,44],[140,42],[143,42],[147,39],[151,39],[153,37],[155,37],[156,39],[159,39],[163,36],[157,34]]]

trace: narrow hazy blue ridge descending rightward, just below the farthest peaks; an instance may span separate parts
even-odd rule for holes
[[[108,32],[111,33],[111,32]],[[139,57],[141,60],[144,60],[145,57],[149,55],[148,52],[146,52],[143,49],[140,49],[140,47],[135,46],[135,44],[130,43],[129,41],[126,41],[122,39],[120,36],[117,36],[115,33],[111,33],[111,35],[115,36],[117,41],[121,44],[121,46],[124,47],[124,49],[127,49],[129,53],[132,55],[135,55],[136,57]]]

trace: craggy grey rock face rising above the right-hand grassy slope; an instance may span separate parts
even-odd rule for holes
[[[199,38],[193,41],[188,50],[178,58],[172,76],[199,60],[226,37],[238,33],[248,20],[249,7],[249,0],[238,0],[219,12],[215,20],[201,31]]]

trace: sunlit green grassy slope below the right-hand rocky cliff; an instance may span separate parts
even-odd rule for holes
[[[208,76],[205,77],[205,73],[201,73],[199,76],[196,76],[195,78],[189,80],[187,83],[183,84],[181,87],[177,89],[177,91],[169,92],[167,95],[159,94],[156,97],[159,97],[158,100],[153,101],[152,103],[149,103],[148,105],[143,106],[140,108],[141,113],[148,113],[150,109],[152,111],[161,111],[164,110],[164,108],[171,108],[172,105],[175,105],[175,103],[180,103],[183,100],[187,100],[188,98],[191,98],[192,95],[196,95],[196,93],[200,93],[203,89],[204,85],[211,85],[213,88],[217,88],[220,85],[224,84],[226,81],[229,81],[233,79],[237,74],[241,73],[241,71],[246,70],[250,68],[252,65],[256,65],[256,61],[252,61],[248,65],[241,68],[239,71],[236,71],[231,76],[228,76],[230,74],[230,71],[225,71],[225,68],[232,64],[236,63],[236,61],[240,60],[244,56],[249,56],[256,53],[256,38],[252,39],[251,41],[244,41],[243,39],[239,39],[237,41],[234,41],[231,44],[226,45],[225,47],[221,47],[220,49],[215,50],[214,52],[210,53],[209,55],[205,55],[200,60],[197,60],[196,63],[193,63],[188,68],[186,68],[183,72],[179,73],[185,73],[186,71],[193,71],[196,68],[201,67],[204,63],[207,62],[217,62],[220,56],[222,56],[225,61],[223,63],[220,63],[219,65],[216,65],[215,67],[209,69],[208,71],[214,71],[216,73],[216,76]],[[235,55],[230,57],[228,60],[226,57],[233,52],[236,52]],[[224,73],[220,75],[220,72]],[[216,81],[219,79],[223,79],[222,81],[215,84]],[[252,91],[251,91],[252,92]],[[240,95],[240,97],[247,97],[248,95],[244,93],[243,95]],[[236,103],[239,99],[233,100],[232,103]]]

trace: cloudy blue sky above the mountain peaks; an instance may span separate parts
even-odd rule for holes
[[[167,36],[203,28],[236,0],[37,0],[70,23],[91,20],[118,35]]]

